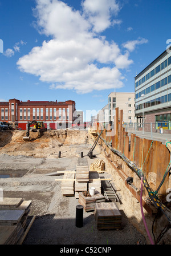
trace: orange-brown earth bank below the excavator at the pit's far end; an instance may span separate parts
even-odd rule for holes
[[[84,130],[52,130],[40,135],[38,132],[30,132],[31,141],[24,141],[23,136],[26,136],[26,131],[0,132],[0,153],[14,156],[58,157],[59,151],[70,152],[72,144],[88,143],[88,132]]]

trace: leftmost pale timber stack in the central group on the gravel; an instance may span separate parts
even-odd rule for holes
[[[61,183],[63,196],[74,196],[75,172],[66,172]]]

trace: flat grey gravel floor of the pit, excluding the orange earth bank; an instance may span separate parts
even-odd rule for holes
[[[52,171],[76,167],[78,157],[63,159],[36,159],[25,156],[1,155],[1,171],[11,173],[22,170],[20,178],[0,179],[0,187],[6,197],[32,200],[28,220],[36,215],[34,223],[23,242],[24,245],[136,245],[145,244],[145,238],[129,222],[124,206],[117,202],[122,215],[121,230],[97,230],[93,212],[83,213],[84,225],[75,226],[78,199],[61,195],[63,176],[45,176]],[[34,167],[34,168],[33,168]],[[51,167],[51,168],[48,168]],[[57,167],[57,168],[56,168]],[[25,173],[25,170],[28,172]],[[107,175],[107,174],[105,174]],[[104,176],[104,174],[103,174]]]

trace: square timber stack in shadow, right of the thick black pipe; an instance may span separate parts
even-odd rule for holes
[[[96,203],[94,214],[97,229],[121,229],[121,214],[115,202]]]

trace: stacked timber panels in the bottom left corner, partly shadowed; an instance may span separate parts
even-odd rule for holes
[[[3,198],[0,202],[0,245],[15,245],[21,241],[30,206],[31,200]]]

